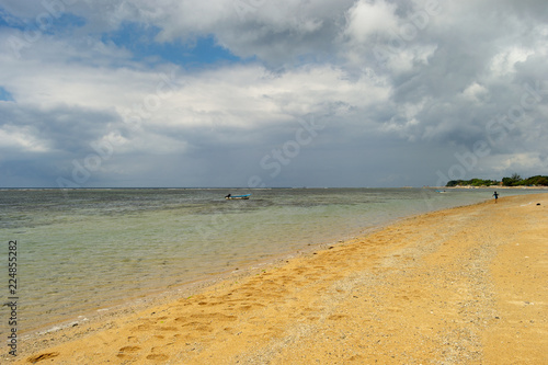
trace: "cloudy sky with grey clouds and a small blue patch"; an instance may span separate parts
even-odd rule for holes
[[[545,0],[0,0],[0,187],[548,174]]]

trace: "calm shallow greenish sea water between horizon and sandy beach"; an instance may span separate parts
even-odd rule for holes
[[[502,191],[510,194],[535,191]],[[226,201],[251,193],[249,201]],[[492,190],[0,191],[0,262],[18,241],[18,328],[32,331],[398,218],[482,202]],[[7,333],[8,307],[0,309]]]

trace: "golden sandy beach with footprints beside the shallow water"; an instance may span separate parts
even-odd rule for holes
[[[403,219],[22,342],[16,364],[548,364],[548,194]]]

